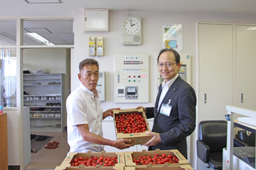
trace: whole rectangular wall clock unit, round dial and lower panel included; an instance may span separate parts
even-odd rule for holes
[[[122,27],[123,44],[141,44],[141,17],[123,16]]]

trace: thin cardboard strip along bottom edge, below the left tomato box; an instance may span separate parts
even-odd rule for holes
[[[123,166],[86,166],[86,167],[62,167],[62,166],[56,166],[56,169],[54,170],[99,170],[99,169],[103,169],[103,170],[124,170]]]

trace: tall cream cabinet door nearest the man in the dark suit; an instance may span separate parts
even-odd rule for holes
[[[199,24],[199,122],[223,119],[232,105],[233,26]]]

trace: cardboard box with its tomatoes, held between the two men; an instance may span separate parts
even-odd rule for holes
[[[149,141],[152,136],[143,108],[113,110],[116,138],[131,139],[131,144],[138,145]]]

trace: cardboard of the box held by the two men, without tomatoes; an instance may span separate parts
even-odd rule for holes
[[[114,123],[115,123],[115,115],[123,115],[123,114],[131,114],[131,113],[141,113],[143,116],[145,123],[146,123],[146,131],[151,131],[149,127],[149,123],[146,120],[146,115],[144,113],[143,108],[131,108],[131,109],[120,109],[120,110],[113,110],[113,118],[114,118]],[[139,145],[139,144],[144,144],[147,141],[149,141],[152,136],[147,135],[145,132],[143,133],[118,133],[117,128],[116,128],[116,123],[115,123],[115,134],[116,138],[125,138],[125,139],[131,139],[131,142],[129,144],[134,144],[134,145]]]

